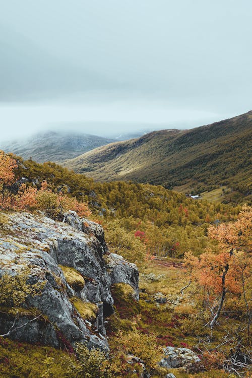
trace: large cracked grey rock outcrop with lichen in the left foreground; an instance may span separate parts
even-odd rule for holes
[[[0,276],[15,276],[26,268],[29,283],[43,283],[40,295],[28,296],[24,305],[27,311],[35,308],[41,317],[14,328],[10,337],[55,347],[86,342],[90,348],[107,351],[104,317],[113,312],[110,286],[127,283],[138,296],[137,267],[118,255],[109,255],[102,227],[80,219],[75,212],[65,214],[64,222],[55,222],[42,213],[8,216],[9,222],[0,232]],[[59,265],[78,271],[85,280],[84,287],[71,287]],[[81,316],[72,297],[97,304],[93,324]],[[31,318],[21,314],[16,327]],[[13,325],[13,315],[0,312],[0,321],[4,334]]]

